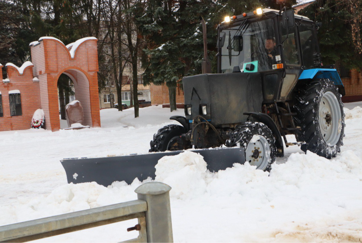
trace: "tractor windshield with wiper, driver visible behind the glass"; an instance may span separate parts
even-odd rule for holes
[[[262,72],[272,69],[276,48],[274,18],[247,20],[220,31],[225,38],[221,47],[221,72],[232,72],[238,66],[241,72]]]

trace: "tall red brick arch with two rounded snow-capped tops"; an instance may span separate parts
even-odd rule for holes
[[[72,47],[72,44],[76,44]],[[34,76],[39,79],[45,128],[60,129],[57,83],[62,73],[76,82],[76,99],[83,106],[84,125],[100,127],[97,39],[83,38],[65,46],[58,39],[41,38],[30,43]],[[68,47],[68,48],[67,48]],[[71,57],[70,50],[74,57]]]

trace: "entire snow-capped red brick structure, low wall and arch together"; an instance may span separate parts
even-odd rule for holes
[[[7,64],[10,82],[0,82],[4,113],[0,117],[0,131],[29,129],[31,118],[38,108],[44,111],[44,128],[59,130],[57,82],[60,74],[65,72],[71,73],[77,83],[75,95],[84,109],[84,124],[100,127],[97,39],[80,39],[69,50],[60,40],[50,37],[40,38],[29,46],[31,62],[20,68]],[[0,64],[0,77],[2,67]],[[21,116],[10,116],[8,90],[20,91]]]

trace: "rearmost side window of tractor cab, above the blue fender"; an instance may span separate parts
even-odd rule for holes
[[[299,37],[304,68],[309,69],[319,66],[317,38],[313,25],[300,24]]]

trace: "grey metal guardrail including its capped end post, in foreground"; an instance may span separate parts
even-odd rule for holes
[[[134,218],[138,224],[127,231],[138,230],[139,236],[125,242],[173,242],[170,190],[167,184],[148,182],[136,188],[138,200],[1,226],[0,242],[26,242]]]

